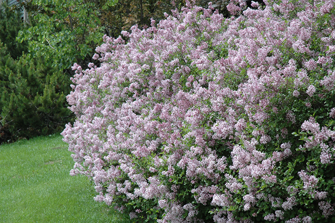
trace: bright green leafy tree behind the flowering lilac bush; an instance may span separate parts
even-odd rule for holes
[[[101,2],[98,6],[102,7],[115,0]],[[28,41],[34,56],[43,57],[60,70],[69,69],[73,63],[88,63],[103,36],[98,6],[94,0],[27,1],[31,25],[18,39]]]

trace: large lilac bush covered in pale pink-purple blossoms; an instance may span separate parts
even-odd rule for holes
[[[104,37],[62,133],[104,201],[137,222],[329,222],[335,0],[197,6]]]

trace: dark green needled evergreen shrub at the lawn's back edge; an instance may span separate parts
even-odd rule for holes
[[[0,5],[0,143],[61,132],[73,119],[65,97],[69,75],[16,40],[27,25],[17,9]]]

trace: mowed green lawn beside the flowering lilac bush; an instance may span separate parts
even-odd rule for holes
[[[69,176],[70,154],[60,135],[0,145],[0,223],[125,222],[85,176]]]

